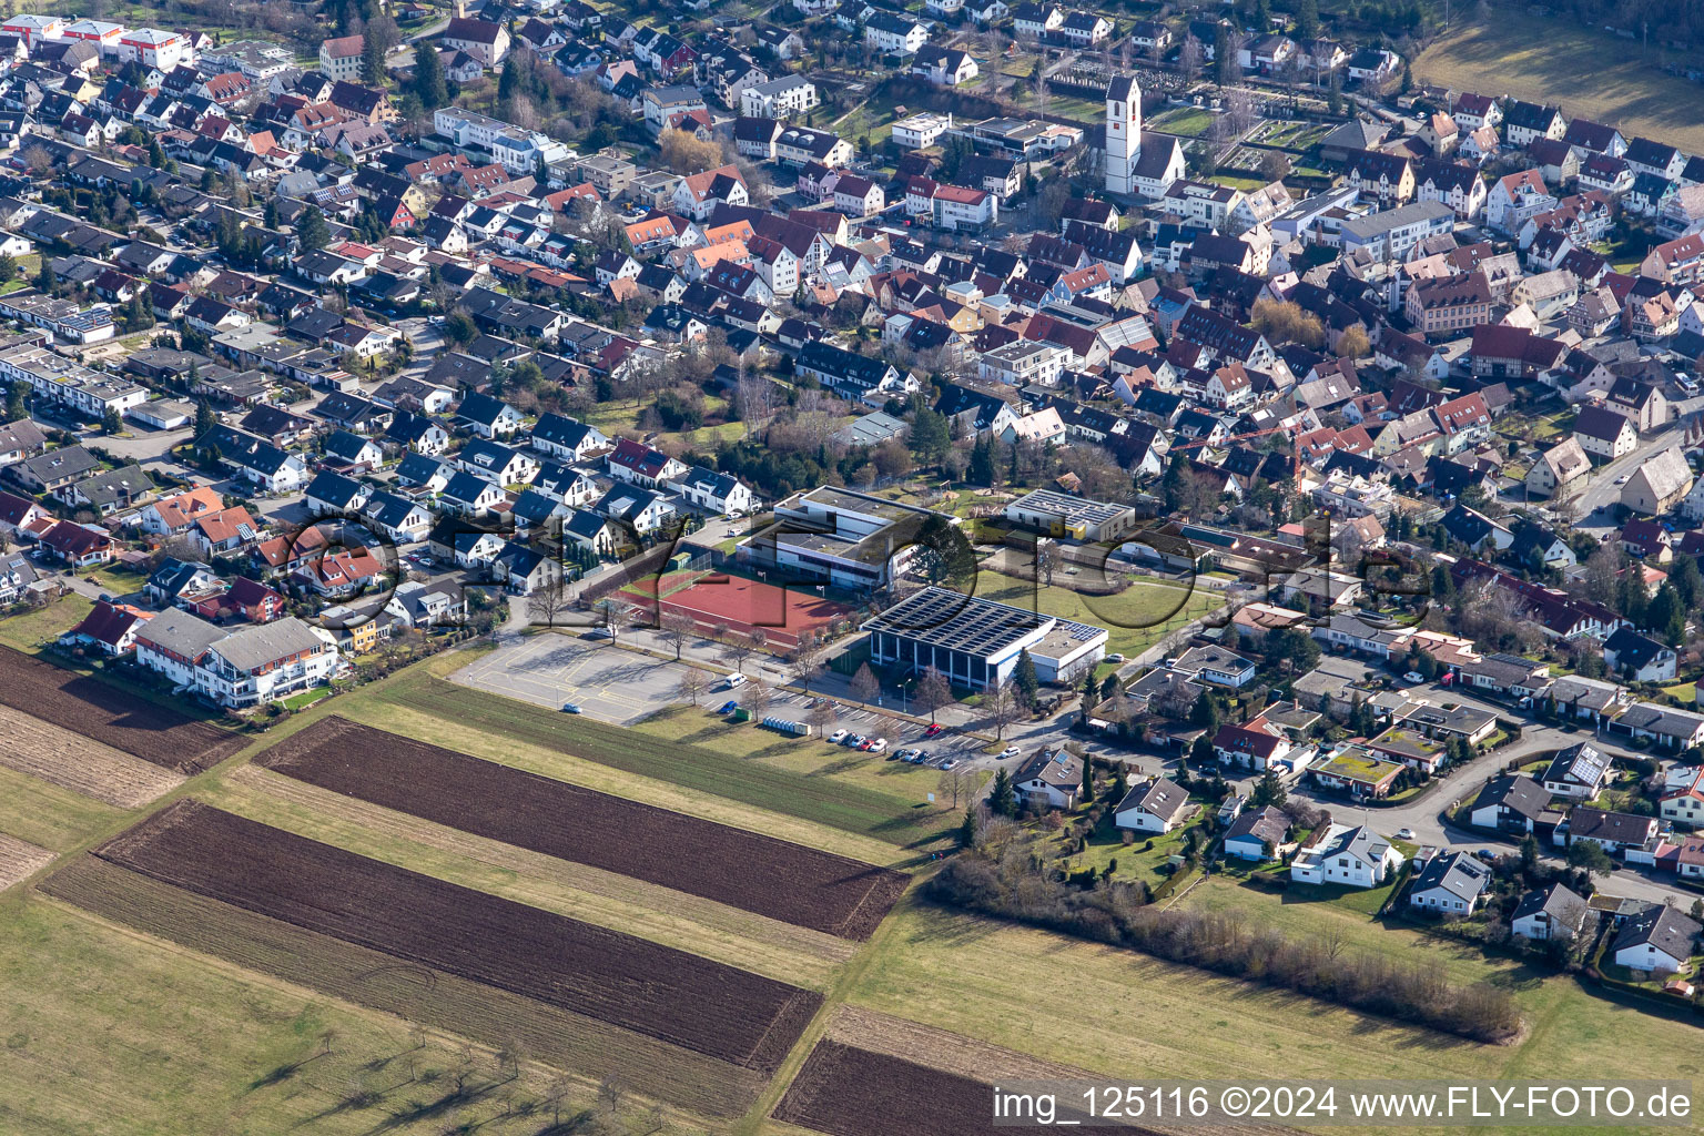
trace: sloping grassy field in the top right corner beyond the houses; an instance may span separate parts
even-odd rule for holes
[[[1644,135],[1690,153],[1704,150],[1704,97],[1697,83],[1660,70],[1660,63],[1690,65],[1690,56],[1663,60],[1656,51],[1648,60],[1639,56],[1636,41],[1522,9],[1518,17],[1442,36],[1414,60],[1414,80],[1559,102],[1564,114],[1614,123],[1627,138]]]

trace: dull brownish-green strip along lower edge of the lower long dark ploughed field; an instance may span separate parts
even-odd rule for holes
[[[694,1114],[734,1117],[762,1078],[596,1018],[511,995],[446,971],[320,935],[268,915],[198,896],[94,855],[61,865],[43,892],[80,918],[102,920],[266,974],[329,998],[394,1013],[429,1029],[501,1047],[521,1042],[537,1059],[578,1075],[644,1085],[648,1097]]]

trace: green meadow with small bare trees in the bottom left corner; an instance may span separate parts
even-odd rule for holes
[[[489,1051],[469,1051],[475,1092],[448,1099],[463,1059],[450,1039],[36,894],[12,896],[0,918],[0,1131],[436,1136],[467,1124],[455,1131],[532,1136],[545,1126],[535,1109],[501,1114],[506,1100],[542,1102],[549,1070],[521,1066],[509,1083]],[[378,1099],[351,1107],[356,1088]],[[595,1087],[569,1100],[576,1112],[591,1105]],[[428,1107],[411,1114],[411,1102]]]

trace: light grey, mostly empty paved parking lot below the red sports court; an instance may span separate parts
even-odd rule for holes
[[[607,640],[540,632],[498,647],[450,680],[542,707],[573,702],[600,722],[629,726],[675,702],[682,669]]]

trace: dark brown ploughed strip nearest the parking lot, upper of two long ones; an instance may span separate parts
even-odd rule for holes
[[[845,938],[869,938],[910,884],[903,872],[654,809],[339,717],[315,722],[262,753],[257,763],[477,836]]]

